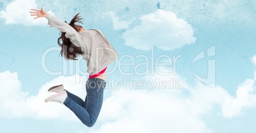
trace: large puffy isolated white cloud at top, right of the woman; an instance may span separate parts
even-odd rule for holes
[[[171,11],[158,9],[155,13],[142,15],[141,25],[124,32],[125,45],[136,49],[150,50],[151,46],[173,50],[193,44],[194,28]]]

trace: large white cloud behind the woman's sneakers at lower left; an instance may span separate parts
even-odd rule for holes
[[[65,106],[44,101],[45,98],[54,94],[47,90],[53,85],[59,84],[64,84],[69,92],[77,94],[80,98],[85,98],[86,92],[82,87],[82,80],[85,77],[80,77],[80,84],[75,83],[76,78],[75,75],[60,76],[43,85],[36,96],[29,96],[27,92],[22,91],[17,73],[8,71],[0,73],[0,117],[62,118],[79,121]]]

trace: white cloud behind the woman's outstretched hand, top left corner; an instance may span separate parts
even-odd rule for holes
[[[31,8],[39,9],[34,0],[16,0],[6,6],[5,11],[0,11],[0,18],[6,20],[6,25],[22,24],[22,25],[47,25],[47,20],[38,18],[34,20],[34,16],[31,16],[29,11]],[[48,11],[52,13],[52,11]]]

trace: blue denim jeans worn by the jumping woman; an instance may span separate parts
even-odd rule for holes
[[[64,105],[73,111],[83,124],[87,125],[87,127],[92,127],[103,105],[105,87],[106,81],[103,79],[88,79],[86,82],[87,96],[85,97],[85,101],[67,91],[68,98],[64,101]]]

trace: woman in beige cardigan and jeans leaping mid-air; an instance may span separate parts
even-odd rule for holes
[[[118,54],[100,30],[85,30],[82,26],[76,25],[76,23],[82,23],[79,13],[70,23],[66,23],[46,13],[43,8],[31,10],[31,16],[46,17],[48,25],[60,30],[58,44],[62,48],[61,56],[64,55],[67,60],[77,60],[81,55],[87,61],[87,73],[90,73],[86,82],[85,101],[68,92],[63,85],[56,85],[48,91],[57,92],[57,94],[46,98],[45,102],[54,101],[67,106],[83,124],[92,127],[103,104],[106,68],[116,60]]]

